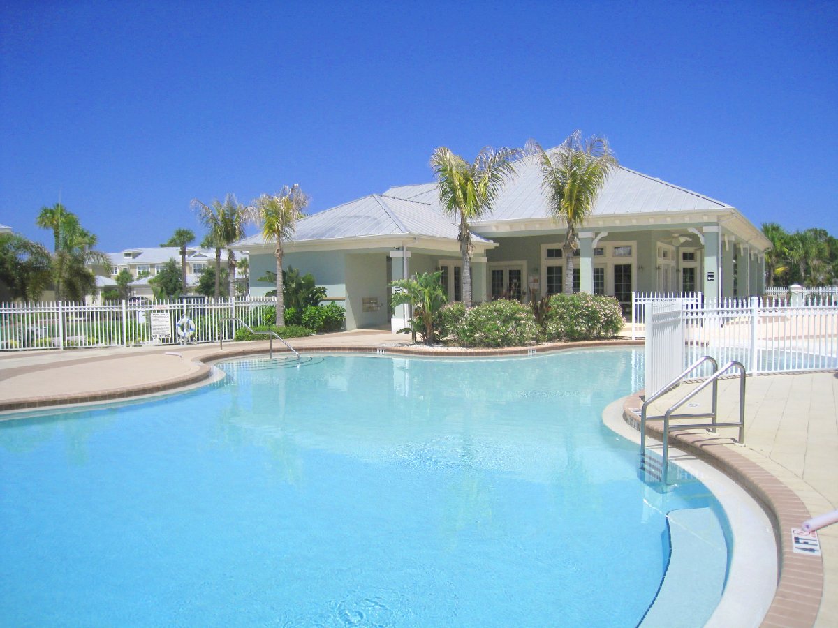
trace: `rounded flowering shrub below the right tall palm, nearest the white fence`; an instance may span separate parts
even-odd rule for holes
[[[613,296],[553,295],[550,306],[544,324],[547,340],[610,338],[623,328],[623,311]]]

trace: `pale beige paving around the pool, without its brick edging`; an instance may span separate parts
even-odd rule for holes
[[[337,351],[384,348],[409,344],[406,334],[357,331],[296,338],[293,347]],[[82,402],[127,397],[195,383],[209,375],[202,360],[265,352],[266,341],[192,347],[132,347],[0,353],[0,410],[27,404]],[[578,345],[575,345],[578,346]],[[279,342],[275,348],[282,347]],[[444,350],[442,350],[444,351]],[[437,353],[442,353],[437,350]],[[674,395],[660,400],[660,411]],[[736,383],[720,386],[720,420],[737,409]],[[39,399],[40,398],[40,399]],[[701,398],[696,399],[701,402]],[[661,409],[662,408],[662,409]],[[747,379],[745,447],[721,445],[741,453],[753,468],[769,471],[794,492],[807,512],[820,514],[838,508],[838,373],[767,375]],[[722,432],[735,435],[735,430]],[[705,433],[706,436],[706,433]],[[759,484],[761,472],[753,473]],[[797,514],[794,515],[797,517]],[[795,524],[799,523],[794,518]],[[824,559],[824,595],[815,625],[838,625],[838,526],[820,532]],[[789,568],[789,572],[792,570]],[[805,592],[803,592],[804,595]],[[794,612],[793,600],[781,600]],[[812,602],[813,600],[810,600]],[[782,610],[782,609],[781,609]],[[789,625],[799,625],[789,620]]]

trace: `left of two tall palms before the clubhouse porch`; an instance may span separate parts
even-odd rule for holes
[[[431,156],[442,209],[448,216],[459,221],[457,239],[463,257],[463,272],[460,276],[466,307],[472,306],[471,258],[474,246],[470,224],[492,210],[506,179],[515,172],[515,160],[520,154],[515,148],[494,150],[485,147],[470,164],[447,147],[437,148]]]

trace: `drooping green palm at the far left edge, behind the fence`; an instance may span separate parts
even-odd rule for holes
[[[39,301],[52,277],[52,258],[44,246],[20,234],[0,234],[0,281],[13,298]]]

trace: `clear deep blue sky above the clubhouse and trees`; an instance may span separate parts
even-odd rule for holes
[[[299,183],[319,211],[433,149],[608,137],[623,165],[838,236],[838,3],[0,6],[0,223],[101,250]],[[251,228],[252,232],[252,228]],[[200,236],[199,236],[200,237]]]

